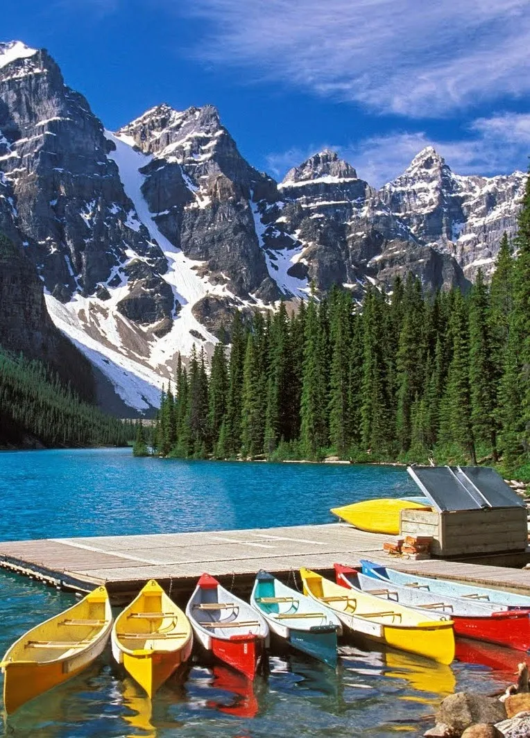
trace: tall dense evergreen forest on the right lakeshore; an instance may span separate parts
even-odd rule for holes
[[[467,294],[409,275],[236,314],[230,352],[179,361],[145,438],[162,456],[500,463],[530,477],[530,179],[517,236]]]

